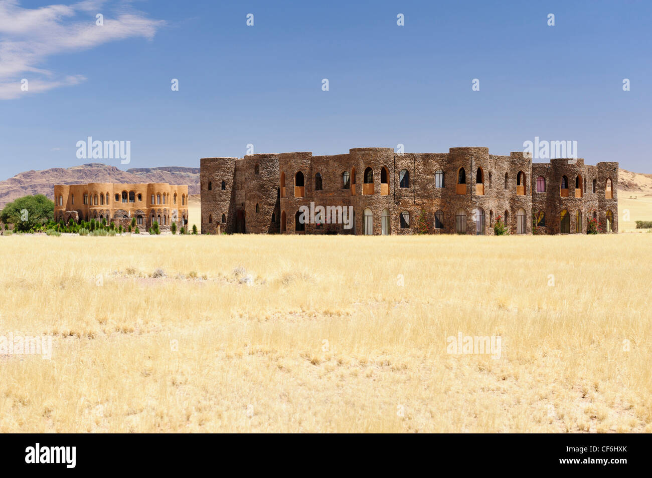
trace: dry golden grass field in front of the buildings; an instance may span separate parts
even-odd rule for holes
[[[0,335],[53,335],[50,360],[0,356],[0,432],[652,432],[651,256],[652,234],[0,237]],[[448,353],[458,333],[499,358]]]

